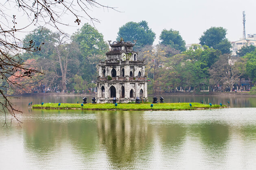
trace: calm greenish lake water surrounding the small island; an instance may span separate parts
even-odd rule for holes
[[[0,169],[256,168],[255,97],[163,96],[165,102],[232,106],[192,111],[27,108],[31,101],[76,103],[82,97],[13,100],[24,112],[18,115],[23,123],[0,128]]]

